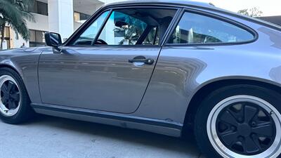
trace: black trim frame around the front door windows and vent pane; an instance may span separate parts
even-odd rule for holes
[[[110,13],[107,15],[107,18],[105,19],[105,21],[103,22],[102,27],[100,27],[100,29],[98,30],[98,34],[96,35],[96,38],[94,41],[96,41],[98,39],[98,37],[100,36],[101,32],[103,31],[103,27],[105,27],[107,20],[110,18],[110,15],[112,14],[113,11],[119,10],[119,9],[126,9],[126,8],[162,8],[162,9],[171,9],[176,11],[174,18],[171,20],[171,23],[169,25],[169,27],[166,29],[166,32],[162,38],[162,40],[159,41],[158,45],[83,45],[83,47],[120,47],[120,46],[126,46],[126,47],[162,47],[164,44],[164,41],[166,40],[167,35],[169,34],[169,32],[171,31],[171,27],[173,27],[174,22],[176,22],[176,19],[178,18],[178,15],[180,15],[181,11],[183,8],[179,8],[177,6],[153,6],[153,5],[144,5],[144,6],[108,6],[105,8],[100,8],[98,11],[96,11],[96,13],[94,13],[93,15],[91,15],[91,18],[89,18],[83,25],[81,25],[81,27],[79,27],[79,29],[77,29],[76,32],[74,32],[74,34],[72,34],[72,36],[67,39],[67,41],[65,41],[65,43],[63,44],[63,46],[71,46],[71,47],[82,47],[82,46],[75,46],[73,45],[73,41],[77,40],[79,38],[79,36],[81,34],[83,34],[83,32],[96,20],[98,19],[98,17],[100,17],[100,15],[102,15],[103,13],[105,13],[106,11],[110,11]]]

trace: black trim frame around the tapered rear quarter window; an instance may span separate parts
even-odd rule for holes
[[[250,34],[253,35],[253,39],[247,40],[247,41],[235,41],[235,42],[219,42],[219,43],[208,43],[208,44],[169,44],[169,39],[172,34],[174,34],[174,30],[178,26],[179,22],[183,18],[183,15],[185,13],[195,13],[197,15],[202,15],[202,16],[207,16],[209,18],[214,18],[216,20],[221,20],[223,22],[227,22],[231,25],[235,25],[236,27],[240,27],[241,29],[244,29],[245,31],[249,32]],[[241,22],[237,22],[235,20],[232,20],[230,18],[223,17],[221,15],[217,15],[214,13],[208,13],[206,11],[199,11],[196,9],[192,8],[184,8],[181,15],[178,16],[179,18],[177,19],[176,22],[174,22],[174,25],[171,29],[171,32],[169,32],[168,36],[166,37],[166,40],[164,41],[164,46],[235,46],[235,45],[240,45],[240,44],[250,44],[259,39],[259,34],[256,32],[256,30],[252,29],[251,27],[242,24]]]

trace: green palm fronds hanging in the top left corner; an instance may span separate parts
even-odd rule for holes
[[[34,16],[29,11],[29,8],[32,7],[33,4],[33,0],[0,0],[1,39],[4,39],[3,32],[6,23],[15,31],[17,39],[18,34],[20,34],[26,41],[29,39],[27,20],[35,21]]]

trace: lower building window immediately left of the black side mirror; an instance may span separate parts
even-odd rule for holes
[[[44,34],[43,31],[30,29],[30,47],[46,46]]]

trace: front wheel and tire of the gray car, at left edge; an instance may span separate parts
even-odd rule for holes
[[[7,95],[9,85],[12,86]],[[20,124],[34,116],[25,84],[17,72],[6,67],[0,68],[0,89],[0,119],[2,121],[8,124]]]

